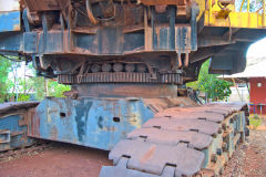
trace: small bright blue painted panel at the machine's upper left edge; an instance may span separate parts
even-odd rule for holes
[[[20,31],[20,11],[0,12],[0,32]]]

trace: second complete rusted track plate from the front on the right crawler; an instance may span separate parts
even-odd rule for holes
[[[178,143],[187,143],[188,147],[196,149],[207,148],[213,138],[209,135],[196,132],[175,132],[158,128],[141,128],[135,129],[127,135],[127,138],[144,137],[145,142],[177,145]]]

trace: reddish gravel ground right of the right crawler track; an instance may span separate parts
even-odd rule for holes
[[[266,125],[266,119],[262,126]],[[250,131],[225,168],[224,177],[266,177],[266,129]]]

